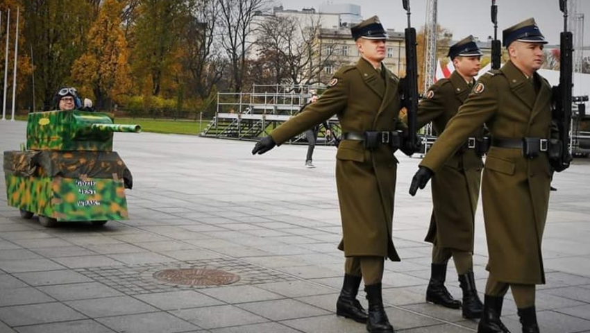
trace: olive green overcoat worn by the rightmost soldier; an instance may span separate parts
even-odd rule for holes
[[[505,139],[555,134],[551,133],[551,87],[537,73],[534,80],[540,86],[538,94],[512,62],[484,74],[421,165],[439,171],[482,123],[492,137]],[[541,238],[551,176],[546,153],[529,159],[521,148],[489,149],[482,203],[491,278],[515,284],[545,283]]]

